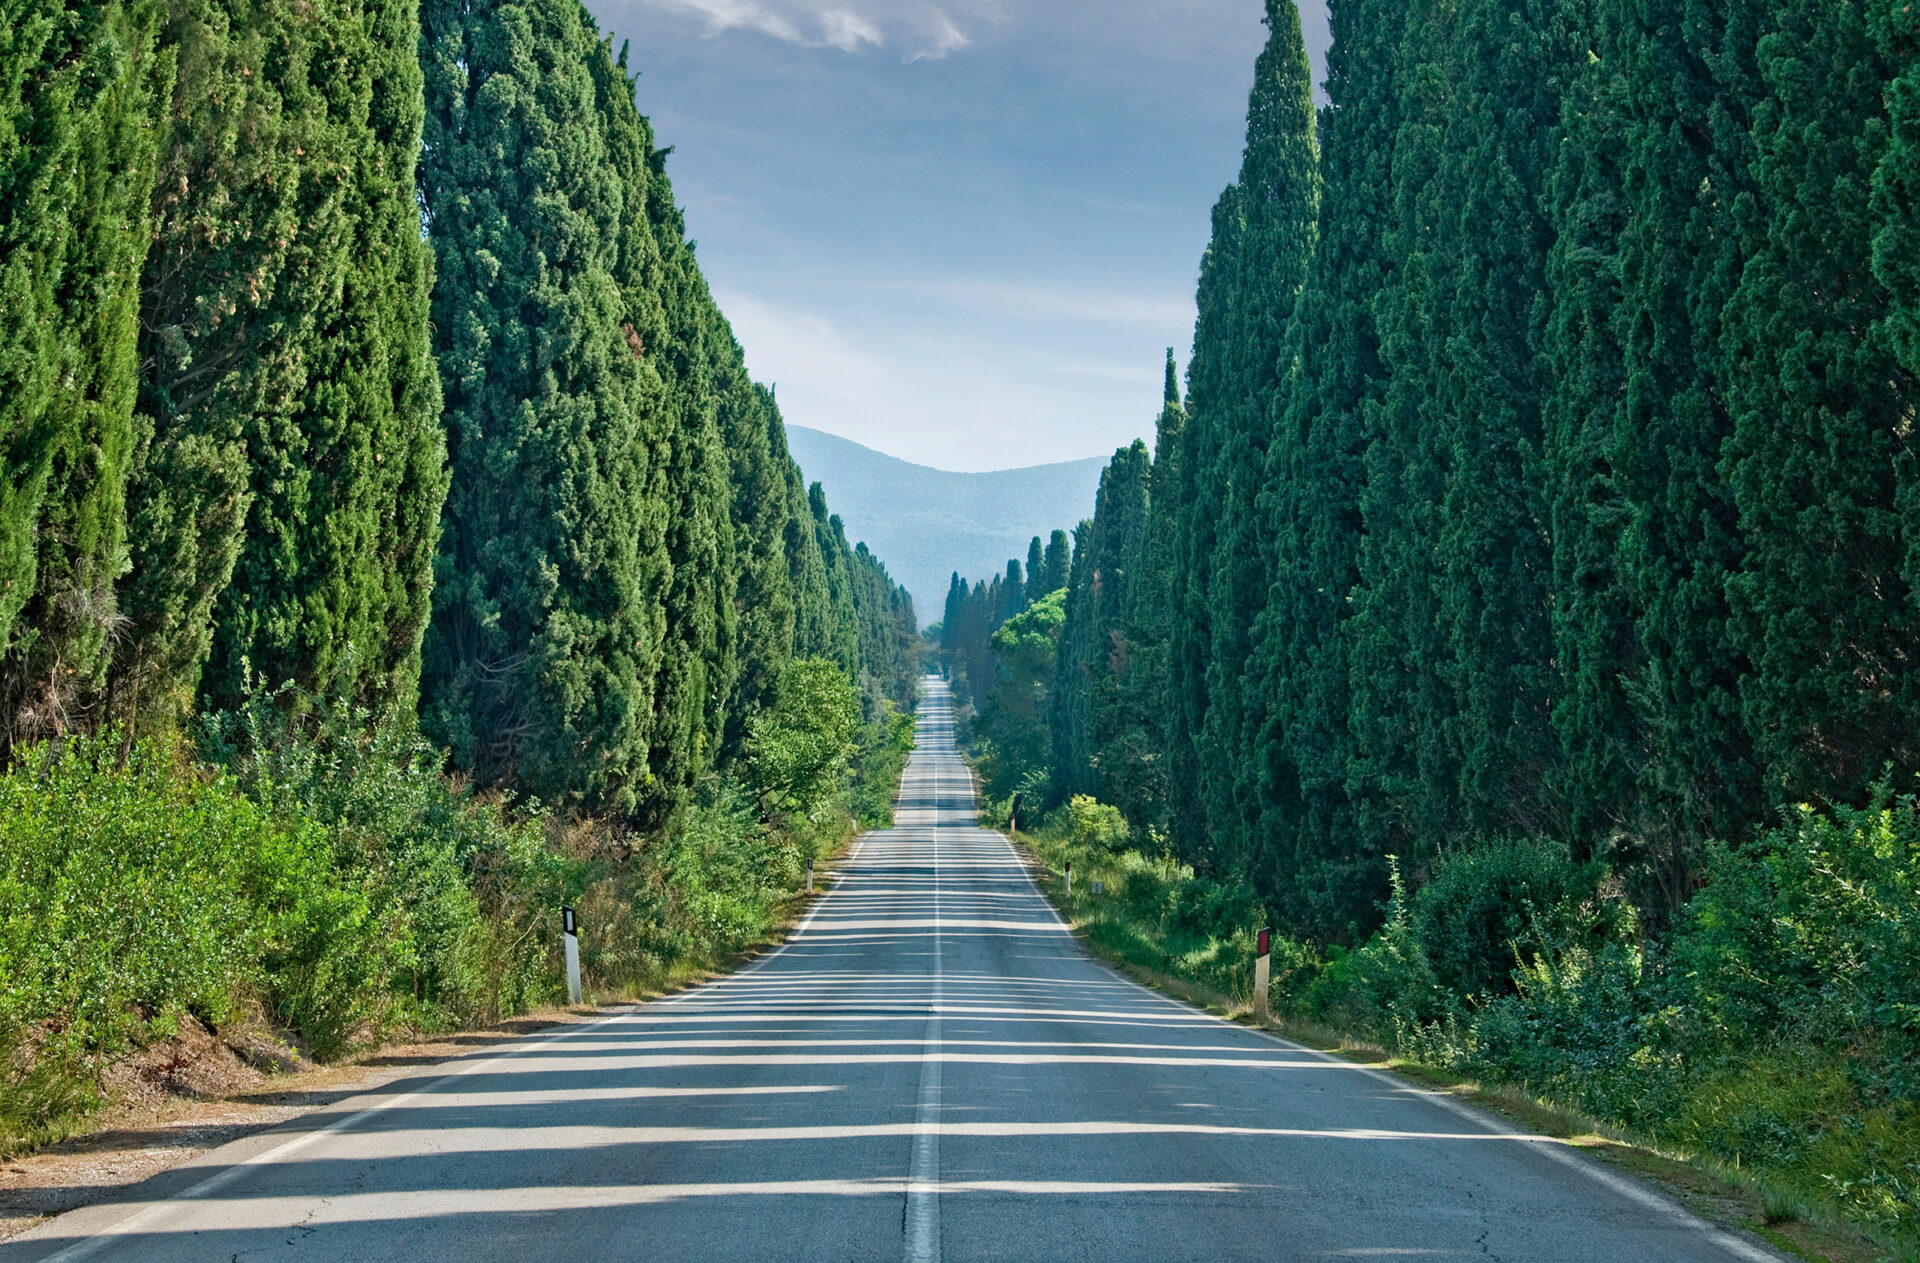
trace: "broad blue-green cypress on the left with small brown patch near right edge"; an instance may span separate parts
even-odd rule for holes
[[[651,150],[578,0],[436,0],[422,50],[453,461],[428,729],[482,779],[634,810],[668,582],[660,317],[620,284],[659,269]]]

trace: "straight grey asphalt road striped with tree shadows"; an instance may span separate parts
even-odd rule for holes
[[[899,827],[780,952],[436,1067],[0,1263],[1776,1259],[1538,1136],[1091,962],[929,681]]]

